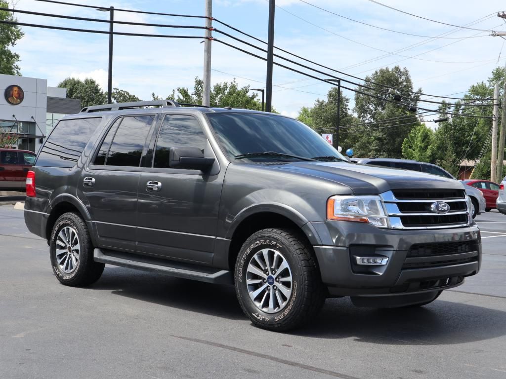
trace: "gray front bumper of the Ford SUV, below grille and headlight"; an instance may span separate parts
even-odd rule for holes
[[[393,230],[347,221],[313,222],[321,246],[314,250],[323,282],[333,296],[401,295],[459,286],[478,273],[481,237],[476,225],[454,229]],[[472,244],[473,251],[410,257],[414,244]],[[420,246],[420,245],[417,245]],[[452,245],[453,246],[453,245]],[[384,256],[385,266],[357,267],[354,256]]]

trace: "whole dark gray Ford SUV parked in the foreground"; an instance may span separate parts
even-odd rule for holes
[[[26,225],[64,285],[91,285],[106,263],[230,283],[271,330],[306,323],[327,297],[428,304],[480,269],[461,183],[350,163],[270,113],[85,108],[52,130],[26,189]]]

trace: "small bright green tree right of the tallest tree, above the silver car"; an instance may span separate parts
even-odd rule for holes
[[[411,129],[402,143],[402,155],[406,159],[434,163],[434,131],[425,124]]]

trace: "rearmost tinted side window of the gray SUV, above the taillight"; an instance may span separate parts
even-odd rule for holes
[[[73,167],[102,118],[61,120],[46,140],[36,165]]]

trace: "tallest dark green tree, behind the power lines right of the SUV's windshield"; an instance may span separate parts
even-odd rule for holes
[[[376,70],[366,77],[364,86],[368,88],[359,87],[364,93],[355,93],[355,113],[362,123],[366,123],[355,128],[360,133],[355,153],[364,157],[400,158],[404,139],[412,128],[420,125],[420,120],[409,107],[416,107],[421,88],[412,93],[409,71],[399,66]],[[397,103],[392,103],[394,94],[402,97]]]

